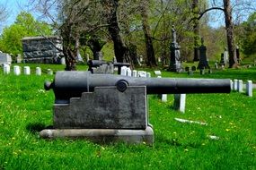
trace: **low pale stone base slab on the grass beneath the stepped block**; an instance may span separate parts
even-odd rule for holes
[[[125,129],[46,129],[40,132],[41,138],[84,138],[100,143],[122,141],[128,144],[154,144],[154,132],[150,126],[146,130]]]

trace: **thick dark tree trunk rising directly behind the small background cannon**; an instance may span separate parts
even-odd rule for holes
[[[128,47],[123,42],[119,30],[119,21],[117,16],[119,0],[104,0],[104,3],[108,8],[108,30],[114,43],[114,51],[117,62],[129,62]]]

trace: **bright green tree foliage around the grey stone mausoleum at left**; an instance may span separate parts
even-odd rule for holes
[[[36,21],[31,13],[22,12],[12,25],[4,28],[0,37],[0,50],[13,55],[22,54],[22,38],[51,34],[47,23]]]

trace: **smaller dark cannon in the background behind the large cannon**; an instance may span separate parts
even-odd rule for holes
[[[121,72],[121,67],[122,66],[127,66],[127,67],[130,66],[129,63],[115,63],[115,62],[107,62],[107,61],[104,61],[104,60],[89,60],[87,62],[87,64],[89,66],[88,71],[90,71],[90,72],[93,72],[93,67],[99,67],[103,64],[113,64],[113,66],[118,67],[118,73],[119,74]]]

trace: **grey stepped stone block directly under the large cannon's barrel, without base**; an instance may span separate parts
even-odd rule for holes
[[[147,126],[146,87],[95,88],[69,104],[54,105],[57,129],[141,129]]]

